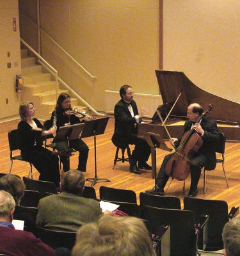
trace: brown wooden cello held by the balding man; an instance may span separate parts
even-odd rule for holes
[[[209,104],[209,108],[198,117],[196,123],[199,123],[203,116],[209,114],[212,108],[213,105]],[[190,173],[191,160],[202,146],[202,143],[202,136],[198,132],[194,129],[186,131],[182,136],[179,147],[176,148],[173,156],[166,164],[166,174],[177,180],[186,180]]]

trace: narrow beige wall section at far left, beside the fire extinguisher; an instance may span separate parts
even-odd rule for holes
[[[13,17],[17,31],[13,31]],[[15,76],[20,74],[19,7],[17,0],[0,0],[0,118],[17,115],[20,93],[15,92]],[[10,52],[10,57],[7,56]],[[7,68],[11,62],[12,68]],[[8,99],[8,104],[6,104]]]

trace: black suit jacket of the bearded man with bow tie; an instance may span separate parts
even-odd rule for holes
[[[136,102],[132,100],[132,110],[134,116],[138,115]],[[113,144],[116,147],[125,147],[129,143],[129,135],[136,134],[136,120],[132,117],[129,108],[124,100],[119,100],[114,108],[115,131],[113,134]]]

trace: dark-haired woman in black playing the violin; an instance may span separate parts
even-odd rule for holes
[[[67,113],[68,110],[72,110],[71,99],[67,93],[61,93],[58,97],[56,107],[52,111],[51,122],[53,126],[57,128],[70,125],[79,124],[84,122],[80,120],[75,114]],[[66,151],[68,150],[67,141],[56,143],[56,148],[58,150]],[[86,172],[86,163],[88,161],[88,146],[83,140],[77,139],[70,141],[70,148],[74,148],[79,152],[79,160],[77,170],[81,172]],[[68,156],[60,156],[61,163],[63,163],[63,171],[67,172],[70,170],[70,161]]]

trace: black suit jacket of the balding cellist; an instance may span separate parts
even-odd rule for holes
[[[191,129],[193,122],[187,121],[184,124],[184,133]],[[202,147],[199,148],[198,154],[204,154],[209,160],[211,167],[216,165],[216,144],[218,143],[220,137],[218,134],[217,125],[212,120],[209,120],[205,117],[202,118],[200,124],[202,129],[204,129],[204,136],[202,136]],[[179,141],[181,138],[179,138]]]

